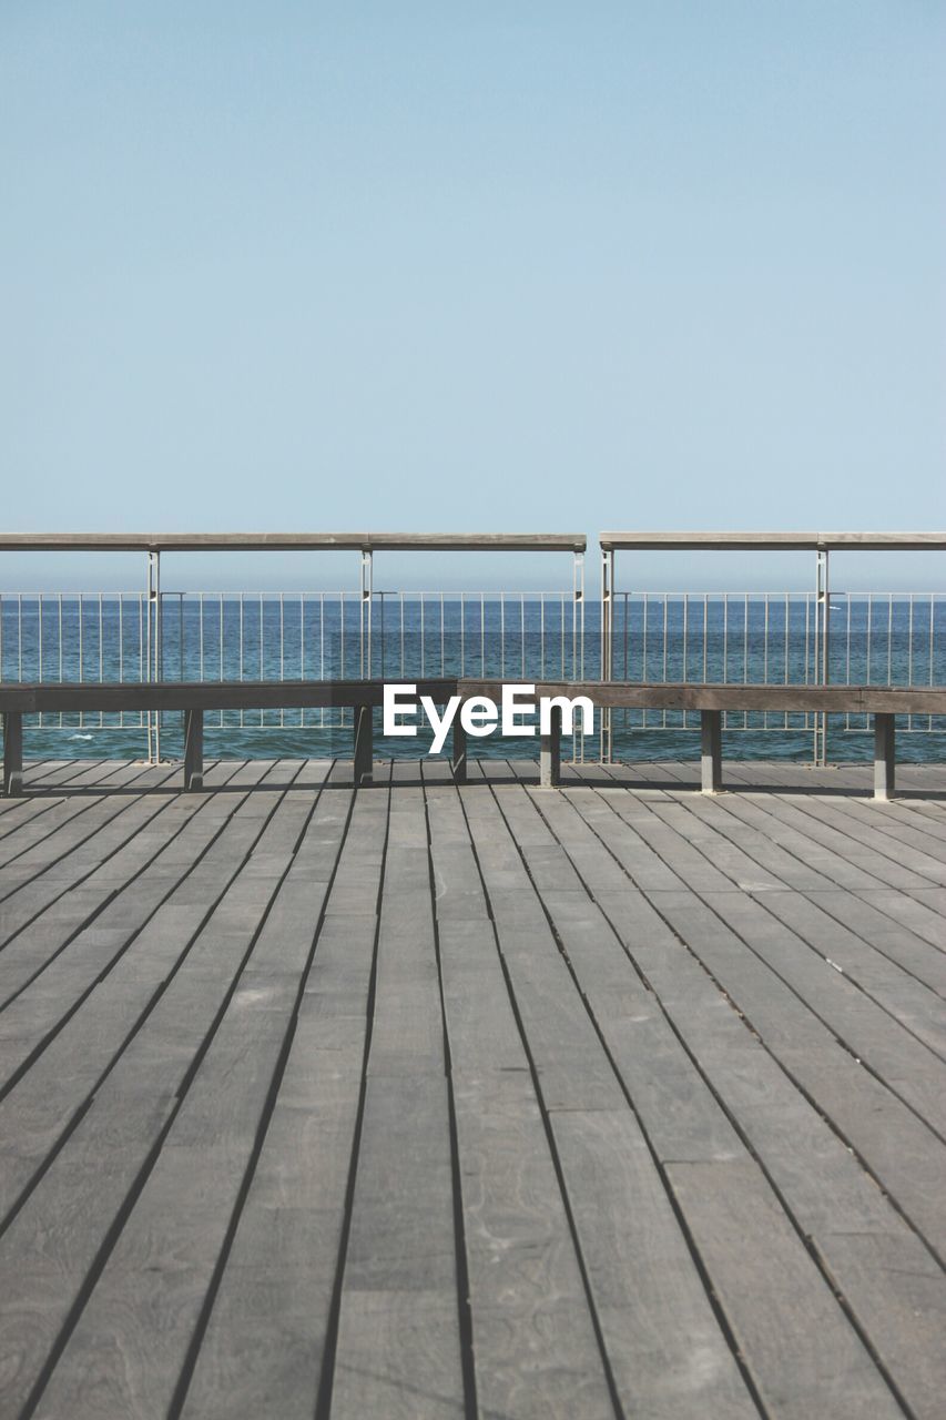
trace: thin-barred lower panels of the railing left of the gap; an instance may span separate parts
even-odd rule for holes
[[[580,581],[551,592],[0,594],[0,682],[388,680],[585,673]],[[38,714],[28,730],[138,734],[149,757],[179,716]],[[335,731],[351,710],[207,713],[205,730]],[[307,753],[303,750],[303,753]],[[581,754],[581,741],[578,744]]]

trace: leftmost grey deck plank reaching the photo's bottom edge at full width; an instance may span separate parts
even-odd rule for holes
[[[305,816],[281,825],[277,839],[283,855],[295,841],[294,829],[304,832],[308,816],[304,802],[295,801],[294,807]],[[273,836],[273,825],[267,832]],[[109,1369],[115,1346],[121,1355],[131,1352],[139,1380],[129,1375],[132,1367],[125,1362],[118,1376],[102,1375],[92,1393],[115,1397],[111,1403],[132,1413],[142,1392],[151,1413],[166,1409],[176,1377],[186,1366],[202,1296],[226,1245],[230,1211],[239,1207],[244,1170],[253,1166],[257,1135],[268,1123],[273,1085],[281,1082],[281,1056],[305,987],[320,920],[318,888],[293,858],[284,855],[277,861],[276,843],[266,843],[267,832],[251,855],[249,870],[278,885],[271,909],[131,1218],[57,1365],[41,1402],[41,1409],[51,1413],[58,1404],[68,1409],[70,1396],[82,1403],[89,1370],[101,1370],[97,1358]],[[318,838],[321,832],[320,826]],[[178,1206],[182,1196],[189,1200],[186,1213]],[[141,1260],[152,1255],[187,1258],[186,1268],[165,1279],[158,1298],[141,1268]],[[126,1318],[115,1326],[112,1316],[118,1309]],[[149,1325],[155,1314],[165,1318],[159,1336]],[[57,1402],[57,1394],[64,1399]]]

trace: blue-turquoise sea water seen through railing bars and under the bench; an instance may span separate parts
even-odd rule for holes
[[[161,612],[138,595],[0,598],[0,677],[6,682],[240,680],[470,674],[504,680],[597,679],[601,608],[571,595],[286,594],[183,596],[165,594]],[[618,598],[612,676],[628,680],[815,683],[822,643],[805,595],[764,598],[653,595]],[[946,683],[946,605],[937,596],[832,598],[830,679],[875,684]],[[693,719],[693,717],[692,717]],[[865,717],[834,717],[832,758],[871,755]],[[946,757],[946,717],[899,726],[903,760]],[[429,736],[381,737],[378,753],[426,753]],[[912,733],[910,733],[912,731]],[[804,716],[732,716],[729,754],[808,760],[814,726]],[[162,717],[162,755],[180,753],[180,716]],[[476,741],[489,757],[537,753],[537,741],[500,736]],[[693,755],[695,724],[680,713],[614,716],[614,753],[628,758]],[[139,716],[36,719],[27,754],[141,757]],[[347,755],[351,728],[338,711],[207,716],[209,757]],[[598,754],[597,736],[584,754]]]

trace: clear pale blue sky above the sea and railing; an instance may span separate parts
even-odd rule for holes
[[[0,0],[3,524],[943,528],[945,159],[942,0]],[[946,585],[940,554],[844,568]],[[142,577],[0,554],[6,588]]]

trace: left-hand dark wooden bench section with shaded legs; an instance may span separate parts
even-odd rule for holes
[[[418,696],[442,703],[456,694],[456,680],[419,680]],[[203,785],[203,716],[206,710],[352,709],[355,784],[371,778],[372,721],[384,696],[382,680],[240,680],[151,682],[145,684],[17,684],[0,687],[3,713],[3,792],[23,792],[23,716],[77,711],[180,710],[185,717],[186,790]]]

